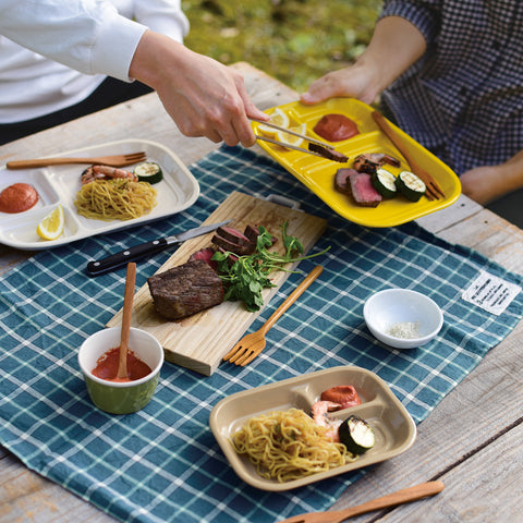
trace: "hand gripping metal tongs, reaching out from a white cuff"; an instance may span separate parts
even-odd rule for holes
[[[157,33],[144,34],[130,75],[157,92],[186,136],[250,147],[256,137],[247,117],[268,119],[250,99],[239,73]]]

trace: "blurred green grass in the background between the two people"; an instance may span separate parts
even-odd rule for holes
[[[182,0],[187,47],[222,63],[246,61],[299,92],[352,63],[381,0]]]

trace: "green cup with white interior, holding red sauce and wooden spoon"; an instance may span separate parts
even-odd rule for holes
[[[129,349],[151,368],[151,373],[126,382],[108,381],[94,376],[93,369],[98,358],[120,346],[120,327],[100,330],[89,336],[78,351],[78,364],[89,398],[98,409],[110,414],[130,414],[149,403],[163,364],[163,349],[158,340],[144,330],[131,328]]]

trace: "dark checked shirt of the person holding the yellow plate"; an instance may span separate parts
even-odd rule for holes
[[[523,2],[386,0],[427,51],[382,94],[384,110],[458,174],[523,149]]]

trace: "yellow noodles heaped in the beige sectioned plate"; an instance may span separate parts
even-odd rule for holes
[[[252,417],[232,436],[232,443],[260,476],[283,483],[356,459],[344,445],[326,436],[327,431],[305,412],[290,409]]]

